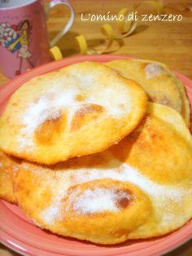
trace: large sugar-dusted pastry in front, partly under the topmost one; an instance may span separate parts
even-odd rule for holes
[[[23,163],[15,196],[28,218],[59,235],[98,244],[161,236],[192,217],[191,154],[180,115],[151,104],[142,125],[105,152]]]

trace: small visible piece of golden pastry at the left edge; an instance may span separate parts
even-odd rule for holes
[[[16,204],[13,179],[19,170],[20,160],[9,157],[0,150],[0,198]]]

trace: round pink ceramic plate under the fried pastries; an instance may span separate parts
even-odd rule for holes
[[[8,82],[7,85],[0,87],[0,111],[7,104],[7,100],[11,94],[28,79],[41,75],[42,73],[62,68],[68,64],[74,64],[85,60],[106,62],[116,59],[125,59],[129,57],[118,55],[90,55],[76,56],[50,64],[34,68],[28,73],[24,73],[20,77]],[[192,82],[189,78],[184,77],[180,73],[176,73],[177,77],[184,82],[187,93],[192,103]],[[81,255],[81,256],[112,256],[112,255],[159,255],[164,254],[171,249],[178,247],[189,241],[192,237],[192,220],[181,227],[176,232],[172,232],[167,236],[149,240],[127,241],[120,245],[94,245],[88,242],[76,241],[75,239],[56,236],[45,230],[34,226],[22,211],[15,205],[11,205],[5,201],[0,201],[0,240],[3,244],[20,254],[27,255]]]

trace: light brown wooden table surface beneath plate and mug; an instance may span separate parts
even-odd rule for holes
[[[46,1],[46,5],[48,2]],[[104,37],[99,29],[103,22],[82,21],[81,13],[84,15],[88,13],[104,15],[107,11],[110,11],[111,14],[116,14],[121,8],[131,8],[133,4],[141,1],[71,0],[71,2],[76,11],[76,20],[72,29],[58,43],[63,52],[63,57],[78,54],[74,38],[79,34],[84,34],[91,47],[100,49],[103,45]],[[183,15],[183,20],[181,22],[139,22],[136,31],[128,38],[124,38],[120,42],[120,49],[113,54],[158,60],[192,78],[192,11],[181,7],[180,0],[164,2],[168,5],[165,9],[166,13],[181,14]],[[192,1],[188,2],[189,6],[192,6]],[[155,14],[152,7],[143,7],[142,11]],[[63,28],[68,16],[66,7],[59,6],[50,11],[50,19],[48,20],[50,38],[53,38]],[[116,29],[116,24],[110,24]],[[7,77],[0,74],[0,85],[7,81]],[[2,246],[0,256],[6,255],[5,253],[8,253],[8,251]],[[12,252],[10,254],[16,255]],[[167,255],[192,255],[192,241],[187,242]]]

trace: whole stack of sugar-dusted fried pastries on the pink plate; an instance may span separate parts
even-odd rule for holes
[[[82,62],[24,83],[0,119],[0,197],[38,227],[98,244],[192,218],[190,104],[150,60]]]

